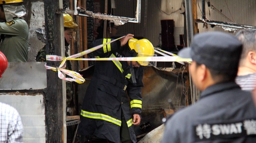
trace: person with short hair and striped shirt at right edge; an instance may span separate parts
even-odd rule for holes
[[[256,88],[256,30],[240,30],[236,37],[243,44],[236,83],[242,90],[252,91]]]

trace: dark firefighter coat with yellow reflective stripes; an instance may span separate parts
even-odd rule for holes
[[[95,40],[93,46],[106,43],[110,40]],[[120,41],[113,42],[94,51],[94,56],[124,57],[124,49]],[[143,87],[143,67],[134,68],[136,85],[130,81],[131,73],[127,61],[96,61],[94,76],[85,93],[81,110],[81,123],[78,132],[83,135],[95,135],[101,139],[120,142],[121,111],[126,119],[131,140],[137,142],[133,130],[133,114],[141,114],[141,87]],[[108,79],[100,78],[102,76]],[[126,91],[117,86],[127,85]],[[114,80],[113,80],[114,81]]]

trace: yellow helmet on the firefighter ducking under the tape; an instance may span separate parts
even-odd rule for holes
[[[137,57],[152,57],[155,54],[154,46],[147,39],[130,39],[129,47],[131,50],[135,50],[138,55]],[[148,61],[137,61],[141,66],[147,66],[149,64]]]

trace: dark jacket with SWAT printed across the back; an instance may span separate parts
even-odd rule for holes
[[[251,93],[227,82],[207,87],[197,103],[175,113],[162,143],[255,143],[255,135]]]

